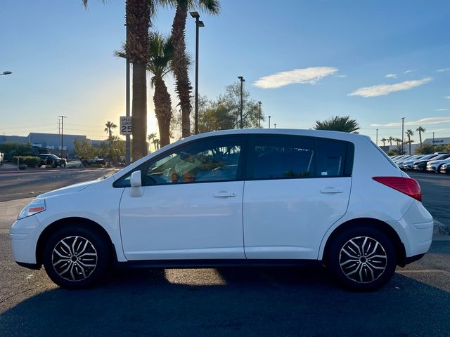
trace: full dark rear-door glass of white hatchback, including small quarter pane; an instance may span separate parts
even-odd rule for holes
[[[352,175],[352,143],[299,136],[255,136],[248,178],[293,179]]]

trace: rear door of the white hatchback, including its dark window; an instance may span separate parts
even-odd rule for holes
[[[254,136],[243,199],[247,258],[316,259],[323,235],[345,215],[352,143]]]

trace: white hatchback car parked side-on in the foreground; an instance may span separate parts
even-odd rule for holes
[[[373,290],[430,248],[420,200],[366,136],[217,131],[41,194],[12,225],[12,249],[72,289],[110,267],[323,263],[344,286]]]

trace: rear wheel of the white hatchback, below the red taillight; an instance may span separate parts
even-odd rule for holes
[[[387,284],[394,275],[397,253],[392,241],[380,230],[354,227],[330,242],[326,264],[345,288],[374,291]]]

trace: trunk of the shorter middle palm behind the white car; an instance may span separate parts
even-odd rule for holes
[[[172,100],[169,91],[163,79],[155,78],[155,95],[153,95],[153,103],[155,103],[155,114],[158,119],[158,127],[160,129],[160,145],[161,147],[170,144],[170,119],[172,119]]]

